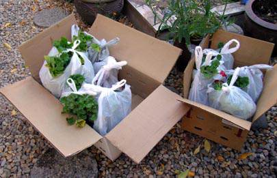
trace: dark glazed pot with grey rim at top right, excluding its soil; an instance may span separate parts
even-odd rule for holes
[[[265,40],[267,42],[277,44],[277,24],[269,23],[254,14],[253,4],[255,1],[256,0],[249,0],[246,4],[246,22],[244,24],[246,35],[249,35],[252,38],[257,38],[259,40]],[[275,1],[275,3],[277,3],[277,1]],[[276,55],[277,45],[275,45],[272,53],[272,56],[275,57]]]

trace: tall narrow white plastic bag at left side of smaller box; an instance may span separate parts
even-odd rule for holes
[[[196,46],[194,53],[195,53],[196,72],[194,73],[194,80],[192,81],[192,87],[189,90],[189,100],[207,105],[208,104],[207,86],[209,85],[209,83],[213,82],[213,78],[207,79],[200,72],[202,57],[203,57],[202,48],[200,46]],[[203,65],[209,65],[211,61],[211,57],[212,57],[211,54],[207,55]]]

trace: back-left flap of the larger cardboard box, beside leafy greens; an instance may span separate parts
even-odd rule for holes
[[[77,22],[74,14],[71,14],[18,47],[31,75],[38,82],[40,82],[38,72],[44,62],[44,55],[48,55],[54,40],[58,40],[62,36],[71,40],[71,26],[73,24],[77,24]]]

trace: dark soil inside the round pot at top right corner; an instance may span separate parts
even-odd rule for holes
[[[276,0],[256,0],[252,5],[252,10],[259,18],[268,23],[277,24]]]

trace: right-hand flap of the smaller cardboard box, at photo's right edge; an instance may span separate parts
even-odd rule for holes
[[[263,80],[263,92],[257,103],[256,114],[252,121],[259,119],[263,113],[277,103],[277,64],[274,65],[273,70],[267,70]]]

